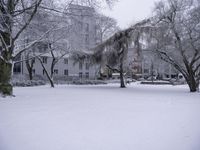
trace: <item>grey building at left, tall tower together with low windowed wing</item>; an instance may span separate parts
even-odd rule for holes
[[[96,45],[96,24],[95,24],[95,10],[88,6],[77,4],[70,4],[68,8],[69,13],[69,39],[68,44],[70,50],[87,50]],[[50,71],[52,56],[48,52],[48,43],[40,42],[32,48],[34,55],[40,55],[47,70]],[[59,50],[55,51],[55,56],[61,55]],[[25,56],[21,56],[25,60]],[[19,67],[20,66],[20,67]],[[97,67],[91,66],[89,62],[78,62],[65,55],[54,68],[54,77],[58,79],[94,79],[97,74]],[[28,75],[28,70],[25,61],[15,65],[14,73]],[[46,78],[45,72],[39,62],[34,59],[33,66],[34,77]]]

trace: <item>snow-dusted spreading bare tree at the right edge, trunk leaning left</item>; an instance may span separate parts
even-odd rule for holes
[[[167,0],[156,5],[150,47],[183,74],[191,92],[200,80],[200,1]]]

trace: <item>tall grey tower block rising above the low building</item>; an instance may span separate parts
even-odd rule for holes
[[[71,50],[86,50],[96,45],[96,18],[94,8],[69,5]]]

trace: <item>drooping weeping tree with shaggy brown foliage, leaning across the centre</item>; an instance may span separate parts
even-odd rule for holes
[[[74,53],[73,59],[77,61],[89,59],[91,63],[107,66],[111,70],[120,73],[120,87],[125,88],[124,61],[127,57],[129,45],[134,45],[140,50],[139,40],[141,33],[149,33],[152,28],[149,22],[149,19],[143,20],[126,30],[119,31],[90,52]]]

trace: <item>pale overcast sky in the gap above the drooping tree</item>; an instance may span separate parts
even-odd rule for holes
[[[121,28],[151,16],[155,1],[158,0],[118,0],[112,10],[104,9],[105,15],[115,18]]]

